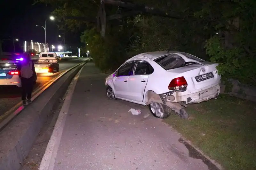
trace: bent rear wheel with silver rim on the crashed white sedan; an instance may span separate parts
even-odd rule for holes
[[[150,112],[157,118],[164,119],[171,115],[172,109],[162,103],[150,103],[148,105]]]

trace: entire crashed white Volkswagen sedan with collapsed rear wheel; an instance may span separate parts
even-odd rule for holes
[[[126,60],[106,78],[106,95],[148,105],[158,118],[166,118],[174,111],[188,119],[186,104],[219,96],[217,65],[184,52],[141,53]]]

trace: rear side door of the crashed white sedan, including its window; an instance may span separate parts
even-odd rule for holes
[[[148,82],[148,76],[154,71],[153,67],[147,61],[136,61],[133,75],[128,81],[128,99],[136,102],[142,102],[144,90]]]

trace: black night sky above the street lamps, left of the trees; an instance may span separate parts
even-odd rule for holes
[[[19,39],[44,43],[44,28],[36,27],[43,25],[45,19],[51,16],[53,8],[45,4],[32,5],[34,0],[1,0],[1,26],[0,37]],[[46,41],[50,45],[61,43],[58,35],[61,34],[57,28],[57,21],[48,19],[46,21]],[[65,43],[68,46],[77,46],[79,43],[80,33],[71,38],[66,34]],[[63,41],[62,41],[63,44]]]

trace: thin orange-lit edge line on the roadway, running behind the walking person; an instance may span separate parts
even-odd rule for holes
[[[87,61],[87,60],[85,60]],[[84,61],[84,62],[85,62]],[[47,89],[49,86],[51,86],[55,81],[60,79],[63,75],[68,73],[70,70],[74,69],[75,67],[84,64],[84,62],[77,64],[74,67],[69,68],[68,70],[62,72],[59,76],[56,78],[53,78],[51,81],[48,81],[45,83],[42,87],[37,89],[36,91],[33,92],[33,97],[31,98],[31,101],[35,100],[36,97],[38,97],[41,93],[44,92],[45,89]],[[35,94],[36,93],[36,94]],[[20,106],[21,105],[21,106]],[[19,107],[20,106],[20,107]],[[17,109],[16,109],[17,108]],[[5,112],[2,116],[0,116],[0,131],[16,116],[18,115],[25,107],[22,106],[22,101],[20,103],[17,103],[15,106],[13,106],[10,110]],[[15,110],[16,109],[16,110]],[[15,110],[15,111],[14,111]],[[2,121],[1,121],[2,120]]]

